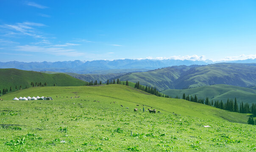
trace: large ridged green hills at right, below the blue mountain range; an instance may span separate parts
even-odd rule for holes
[[[128,73],[116,77],[122,81],[139,81],[142,85],[159,90],[187,89],[213,84],[228,84],[240,87],[256,85],[256,65],[218,63],[211,65],[173,66],[154,71]]]

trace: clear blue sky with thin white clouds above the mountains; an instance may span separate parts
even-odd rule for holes
[[[255,0],[1,0],[0,62],[256,58]]]

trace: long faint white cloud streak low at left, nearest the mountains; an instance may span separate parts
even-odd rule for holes
[[[67,57],[80,57],[85,55],[83,52],[77,52],[75,49],[65,49],[61,47],[51,47],[51,46],[17,46],[15,51],[21,52],[40,52],[40,53],[47,53],[47,54],[54,54],[57,56],[67,56]]]

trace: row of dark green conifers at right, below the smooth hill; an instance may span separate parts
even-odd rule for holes
[[[223,109],[223,110],[239,112],[239,113],[243,113],[243,114],[253,114],[254,116],[256,116],[256,104],[252,103],[252,105],[250,106],[249,103],[242,102],[238,105],[237,98],[235,98],[234,100],[228,99],[226,103],[223,103],[222,100],[209,101],[208,97],[206,97],[205,99],[203,99],[203,98],[198,99],[198,97],[196,95],[194,97],[192,95],[190,95],[190,97],[189,97],[189,95],[186,96],[184,93],[182,95],[182,99],[196,102],[196,103],[206,104],[208,106],[213,106],[215,108],[219,108],[219,109]],[[256,121],[254,122],[252,115],[248,119],[248,124],[256,125]]]

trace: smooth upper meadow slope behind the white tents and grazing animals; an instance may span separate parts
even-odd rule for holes
[[[76,93],[72,93],[76,92]],[[231,122],[246,123],[247,117],[245,114],[224,111],[211,106],[206,106],[200,103],[193,103],[182,99],[161,98],[155,95],[148,94],[141,90],[134,89],[120,84],[110,84],[106,86],[95,87],[33,87],[26,90],[3,95],[4,100],[11,100],[16,97],[24,96],[56,96],[56,95],[100,95],[109,98],[122,100],[123,102],[144,104],[156,109],[161,109],[168,112],[175,112],[182,115],[189,115],[205,119],[229,120]]]

